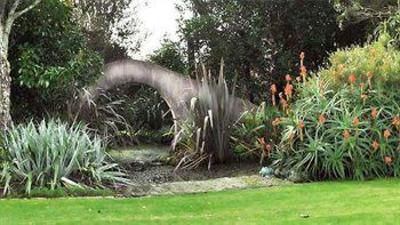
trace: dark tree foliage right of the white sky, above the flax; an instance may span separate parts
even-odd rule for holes
[[[216,70],[224,58],[227,78],[237,74],[238,91],[254,102],[269,83],[297,76],[300,52],[313,70],[329,52],[360,40],[342,35],[329,0],[187,0],[185,7],[193,13],[181,24],[192,70],[199,62]]]

